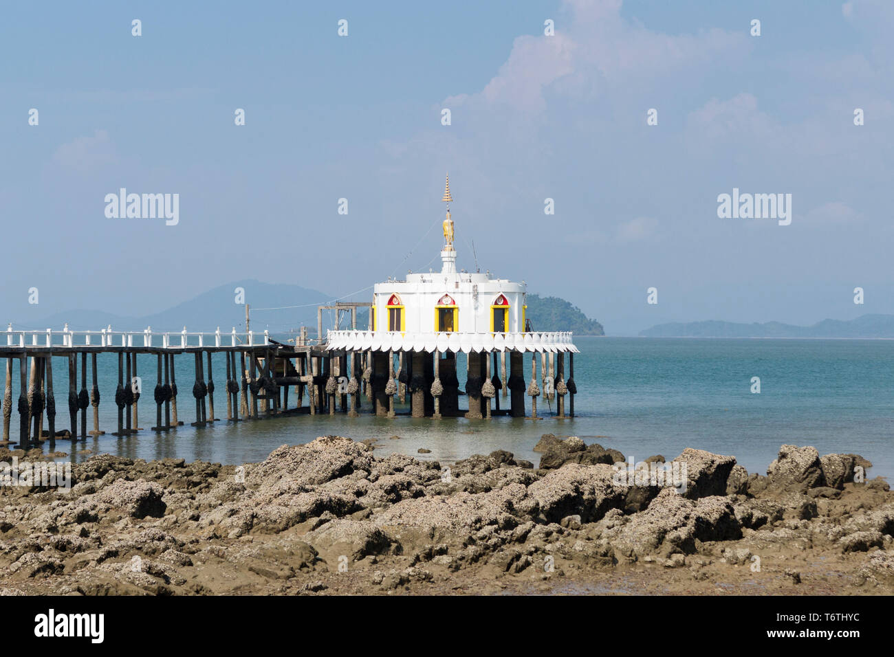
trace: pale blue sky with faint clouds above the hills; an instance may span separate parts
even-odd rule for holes
[[[482,270],[608,333],[894,313],[892,19],[881,0],[11,4],[0,319],[426,271],[445,171],[460,266],[474,240]],[[180,223],[107,219],[121,187],[180,194]],[[718,218],[734,187],[792,194],[791,225]]]

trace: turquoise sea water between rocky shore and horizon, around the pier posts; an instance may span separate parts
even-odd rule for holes
[[[536,464],[539,455],[532,448],[541,434],[552,433],[578,435],[637,460],[653,454],[671,459],[686,447],[696,447],[735,455],[749,472],[761,473],[781,444],[814,445],[821,454],[863,455],[873,462],[870,476],[894,475],[894,341],[581,337],[575,342],[581,353],[575,357],[578,395],[573,419],[555,419],[543,405],[539,410],[547,417],[536,422],[510,417],[414,419],[406,406],[398,405],[398,412],[408,415],[394,419],[367,414],[358,418],[302,415],[235,424],[222,421],[197,429],[189,425],[195,419],[193,361],[182,355],[177,357],[178,407],[186,424],[167,434],[148,430],[155,425],[156,358],[140,356],[144,393],[139,425],[147,428],[124,438],[111,435],[117,417],[117,358],[103,355],[99,358],[100,428],[108,433],[79,442],[77,450],[86,447],[92,453],[131,458],[181,457],[240,464],[265,459],[282,444],[339,434],[378,439],[378,454],[400,451],[449,463],[502,449]],[[66,397],[59,394],[67,385],[66,363],[64,358],[54,361],[59,428],[69,425]],[[222,356],[215,356],[214,368],[215,415],[226,417]],[[460,372],[465,372],[461,359]],[[759,394],[751,392],[754,376],[760,377]],[[464,383],[462,376],[460,383]],[[17,395],[14,390],[13,439],[18,435]],[[290,406],[294,399],[291,394]],[[368,412],[366,398],[362,401]],[[465,400],[460,398],[463,406]],[[400,439],[392,439],[395,435]],[[431,453],[417,454],[420,448]],[[57,441],[56,450],[70,452],[66,458],[72,460],[89,456],[72,450],[67,440]]]

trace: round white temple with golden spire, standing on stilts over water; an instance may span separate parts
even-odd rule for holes
[[[467,417],[491,417],[493,413],[524,417],[526,394],[532,398],[532,417],[536,417],[536,400],[541,394],[550,408],[557,397],[557,415],[565,417],[564,395],[570,394],[573,416],[573,354],[578,349],[571,333],[533,330],[526,316],[524,282],[457,271],[449,205],[452,200],[448,177],[442,198],[448,205],[443,221],[441,271],[407,274],[405,281],[376,283],[368,329],[331,330],[326,335],[326,349],[350,355],[351,371],[358,370],[356,359],[366,360],[364,379],[372,388],[370,396],[379,415],[393,417],[394,394],[403,397],[407,390],[414,417],[458,415],[456,355],[462,352],[467,354]],[[566,352],[570,370],[567,382]],[[524,383],[522,372],[527,353],[531,354],[529,384]],[[354,377],[352,380],[356,381]],[[353,387],[357,388],[356,383]],[[501,391],[504,400],[511,396],[509,409],[505,401],[500,409]],[[493,400],[496,409],[491,408]],[[352,410],[356,412],[356,406]]]

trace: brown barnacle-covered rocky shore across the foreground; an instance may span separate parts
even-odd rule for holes
[[[0,594],[894,593],[894,494],[858,455],[783,445],[759,475],[687,449],[619,481],[619,451],[536,450],[539,467],[335,436],[243,467],[94,456],[67,493],[0,487]]]

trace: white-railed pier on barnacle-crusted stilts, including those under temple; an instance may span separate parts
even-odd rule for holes
[[[354,329],[359,305],[350,308]],[[318,331],[322,333],[322,324]],[[0,444],[30,449],[48,441],[50,448],[55,449],[57,439],[77,441],[86,440],[88,435],[105,434],[99,425],[99,404],[103,400],[97,379],[99,354],[116,354],[118,359],[117,381],[111,382],[115,384],[114,397],[110,400],[118,409],[117,425],[111,432],[116,436],[145,431],[140,428],[140,405],[155,407],[149,431],[167,432],[183,425],[184,409],[191,407],[183,404],[183,389],[190,391],[190,383],[195,402],[190,425],[198,427],[222,421],[216,416],[223,416],[223,406],[226,422],[337,412],[358,417],[364,411],[395,417],[394,397],[404,401],[408,394],[412,417],[526,417],[525,396],[532,400],[528,417],[538,417],[539,396],[551,406],[557,398],[557,417],[573,417],[577,392],[574,357],[570,353],[567,383],[563,380],[564,354],[542,353],[538,358],[536,352],[532,353],[530,384],[525,381],[523,351],[468,353],[466,390],[460,392],[455,353],[330,349],[322,336],[316,341],[308,340],[306,329],[294,341],[285,343],[271,339],[266,331],[236,333],[235,329],[231,333],[221,333],[219,329],[214,333],[190,333],[186,329],[180,333],[153,333],[151,328],[142,332],[114,332],[110,327],[78,332],[67,326],[63,331],[15,331],[10,326],[5,332],[5,341],[0,337],[0,358],[5,359]],[[212,368],[215,354],[225,357],[223,371]],[[138,373],[138,355],[155,356],[155,371]],[[174,358],[189,358],[188,355],[194,360],[195,378],[178,382]],[[54,382],[53,368],[49,366],[53,358],[67,359],[67,386],[65,381]],[[543,390],[537,384],[538,359]],[[215,385],[215,375],[218,383],[223,383],[220,387]],[[16,400],[18,440],[11,438],[15,378],[20,390]],[[183,389],[178,388],[178,383]],[[291,388],[295,398],[290,405]],[[65,399],[66,389],[68,417],[57,421],[56,399],[60,396]],[[465,413],[459,408],[460,394],[468,398]],[[568,416],[565,394],[569,394]],[[92,407],[90,413],[89,407]]]

